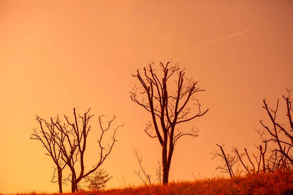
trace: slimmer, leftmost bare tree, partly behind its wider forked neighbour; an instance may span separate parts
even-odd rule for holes
[[[42,146],[47,150],[48,153],[45,155],[51,156],[53,159],[56,169],[57,169],[57,182],[59,186],[59,192],[62,193],[62,184],[66,181],[66,179],[62,178],[62,171],[65,168],[65,163],[62,162],[62,149],[60,148],[61,144],[64,142],[65,134],[60,133],[58,130],[56,131],[54,121],[51,118],[50,122],[46,122],[44,119],[36,116],[36,120],[40,123],[40,135],[37,132],[37,129],[34,129],[34,134],[31,135],[31,139],[37,139],[42,142]],[[56,121],[59,121],[59,118],[56,118]],[[56,169],[54,170],[54,174],[52,176],[51,182],[55,183],[55,174]]]

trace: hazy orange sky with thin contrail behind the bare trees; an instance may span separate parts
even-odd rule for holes
[[[58,190],[50,183],[52,160],[29,137],[36,114],[72,116],[73,107],[79,113],[91,107],[93,128],[102,114],[125,123],[103,165],[113,176],[108,187],[142,184],[132,171],[139,170],[133,147],[155,180],[161,148],[144,133],[150,117],[128,92],[137,68],[171,59],[206,89],[198,98],[209,112],[187,124],[200,136],[178,141],[169,180],[221,175],[220,159],[210,154],[216,144],[256,152],[253,129],[267,119],[263,98],[274,106],[284,87],[293,89],[292,24],[289,0],[1,1],[0,193]],[[87,167],[95,162],[91,133]]]

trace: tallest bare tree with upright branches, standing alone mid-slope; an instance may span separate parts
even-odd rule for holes
[[[188,132],[177,128],[175,132],[175,127],[180,123],[201,117],[209,110],[207,109],[202,113],[201,105],[198,99],[195,98],[195,93],[205,91],[197,86],[198,81],[192,78],[185,78],[185,69],[180,70],[179,63],[168,67],[169,63],[167,62],[164,66],[160,62],[161,76],[153,68],[154,62],[143,68],[143,74],[140,73],[140,70],[137,70],[137,74],[132,76],[139,80],[141,87],[136,87],[135,85],[130,92],[130,98],[151,115],[152,120],[147,122],[145,132],[151,138],[157,137],[162,147],[164,185],[168,184],[171,159],[178,139],[183,136],[198,136],[197,128],[192,127],[191,131]],[[172,92],[170,79],[174,73],[178,77],[173,83],[176,90]],[[192,109],[188,106],[188,103],[194,101],[196,103],[193,103],[193,105],[198,106],[198,112],[189,117]]]

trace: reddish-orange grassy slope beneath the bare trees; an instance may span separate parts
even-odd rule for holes
[[[49,195],[30,193],[20,195]],[[58,195],[58,194],[54,194]],[[72,195],[63,193],[63,195]],[[213,178],[194,182],[171,182],[168,186],[140,186],[75,195],[293,195],[293,170],[260,173],[235,178]]]

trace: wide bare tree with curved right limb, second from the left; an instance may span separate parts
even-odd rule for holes
[[[93,117],[93,115],[88,115],[90,109],[86,113],[84,113],[83,116],[77,115],[75,112],[75,108],[73,109],[73,115],[74,115],[74,122],[71,122],[69,120],[69,117],[66,117],[64,115],[66,123],[62,123],[59,118],[57,118],[56,121],[52,122],[52,127],[56,128],[55,132],[56,137],[58,137],[59,140],[62,140],[60,142],[57,142],[56,145],[59,148],[59,157],[63,160],[63,162],[70,168],[71,170],[71,192],[78,191],[78,183],[86,176],[90,175],[94,171],[96,171],[105,161],[105,159],[110,155],[110,152],[113,149],[113,146],[115,142],[117,141],[117,130],[120,127],[123,127],[124,125],[119,125],[115,128],[113,128],[113,133],[111,136],[111,143],[104,143],[102,142],[103,137],[105,136],[105,133],[108,132],[110,129],[113,121],[116,119],[115,116],[107,122],[106,125],[103,125],[102,117],[99,117],[99,126],[102,131],[98,143],[99,143],[99,158],[97,161],[97,164],[95,164],[90,170],[86,171],[84,170],[85,163],[84,163],[84,152],[86,149],[86,141],[89,131],[91,131],[91,126],[88,124],[90,119]],[[76,164],[79,162],[79,175],[77,174]]]

